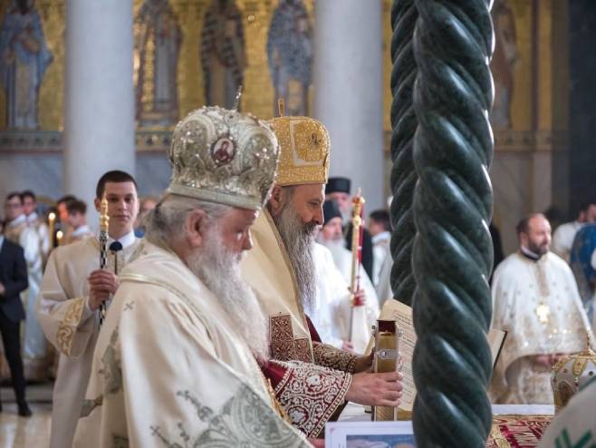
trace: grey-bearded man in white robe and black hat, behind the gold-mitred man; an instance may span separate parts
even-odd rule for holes
[[[360,265],[360,289],[352,303],[352,255],[344,247],[341,211],[335,201],[324,202],[323,216],[322,229],[313,252],[317,268],[317,295],[312,322],[323,342],[362,355],[370,341],[371,326],[379,317],[379,300],[369,276]],[[336,272],[340,273],[339,278]],[[338,344],[338,338],[341,344]]]

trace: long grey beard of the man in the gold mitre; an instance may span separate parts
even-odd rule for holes
[[[317,287],[316,268],[312,257],[312,242],[316,224],[303,224],[300,215],[289,202],[279,216],[274,218],[274,222],[292,263],[304,311],[312,316]]]

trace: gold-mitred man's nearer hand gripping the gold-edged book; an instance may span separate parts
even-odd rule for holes
[[[403,389],[401,379],[398,372],[352,375],[346,400],[370,406],[396,407]]]

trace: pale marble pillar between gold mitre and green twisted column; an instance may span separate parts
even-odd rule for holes
[[[315,2],[314,17],[313,116],[331,135],[331,175],[362,188],[367,212],[385,208],[381,2]]]

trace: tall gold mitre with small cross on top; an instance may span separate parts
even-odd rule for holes
[[[327,183],[331,141],[329,132],[309,117],[285,117],[284,101],[279,100],[280,116],[268,123],[282,147],[275,183],[281,186]]]

